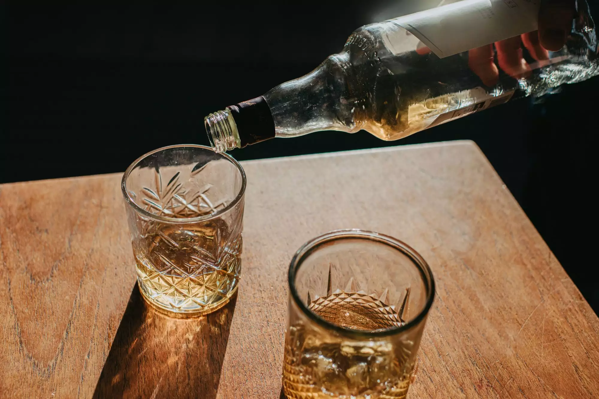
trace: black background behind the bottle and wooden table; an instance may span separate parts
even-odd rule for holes
[[[120,172],[161,146],[208,144],[206,114],[311,71],[358,26],[437,0],[197,3],[2,5],[8,90],[0,183]],[[401,141],[319,132],[232,155],[474,140],[597,312],[598,92],[595,77]]]

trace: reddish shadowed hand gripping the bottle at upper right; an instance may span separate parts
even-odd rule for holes
[[[499,78],[499,69],[494,59],[495,45],[499,68],[515,78],[528,75],[531,68],[522,57],[522,44],[537,61],[549,58],[547,50],[561,49],[576,13],[575,2],[576,0],[543,0],[539,10],[539,31],[470,50],[468,67],[486,86],[494,86]]]

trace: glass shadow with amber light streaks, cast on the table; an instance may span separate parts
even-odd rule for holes
[[[147,306],[136,283],[93,397],[215,398],[236,301],[174,319]]]

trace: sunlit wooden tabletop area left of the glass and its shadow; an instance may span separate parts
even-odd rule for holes
[[[133,265],[117,176],[0,185],[0,397],[91,397]]]

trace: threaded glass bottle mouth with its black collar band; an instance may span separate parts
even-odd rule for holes
[[[204,118],[204,126],[216,152],[243,148],[275,137],[273,116],[262,96],[209,114]]]

